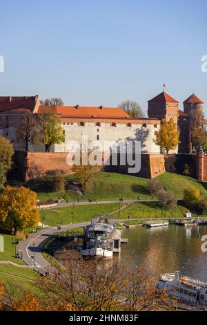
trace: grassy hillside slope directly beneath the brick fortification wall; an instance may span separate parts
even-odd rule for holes
[[[177,198],[183,197],[183,191],[189,185],[198,187],[207,196],[207,183],[199,182],[194,178],[174,173],[164,173],[157,176],[157,178]],[[75,175],[68,175],[67,180],[75,180]],[[70,202],[77,201],[77,198],[81,201],[88,201],[88,198],[100,201],[116,201],[120,196],[123,196],[125,199],[135,199],[137,196],[141,196],[144,199],[151,198],[147,190],[148,180],[137,176],[101,172],[95,178],[92,191],[86,192],[84,197],[81,197],[78,192],[72,189],[50,192],[50,181],[50,178],[36,178],[28,183],[28,186],[37,192],[38,198],[41,201],[47,201],[48,199],[57,200],[59,196],[68,199]]]

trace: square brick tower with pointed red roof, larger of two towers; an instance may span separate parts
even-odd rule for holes
[[[179,102],[163,91],[152,100],[148,100],[148,117],[170,120],[177,123]]]

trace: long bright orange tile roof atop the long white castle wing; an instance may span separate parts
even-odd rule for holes
[[[63,118],[130,118],[120,107],[39,106],[37,113],[52,110]]]

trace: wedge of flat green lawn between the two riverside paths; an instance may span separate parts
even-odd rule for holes
[[[123,205],[121,205],[123,206]],[[74,208],[73,223],[91,221],[99,214],[107,214],[119,210],[119,204],[97,204],[97,205],[78,205]],[[45,225],[64,225],[72,222],[72,207],[60,207],[51,210],[43,210]]]

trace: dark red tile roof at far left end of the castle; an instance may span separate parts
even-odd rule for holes
[[[0,97],[0,113],[32,113],[37,96]]]

